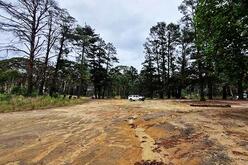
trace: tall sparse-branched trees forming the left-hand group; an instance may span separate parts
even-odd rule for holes
[[[37,91],[39,95],[81,96],[92,82],[95,96],[104,97],[109,72],[118,62],[112,43],[106,43],[88,25],[76,25],[54,0],[0,1],[0,9],[0,30],[14,38],[1,45],[1,51],[24,55],[1,62],[3,91],[14,82],[5,73],[15,70],[22,75],[22,81],[15,81],[15,85],[27,86],[27,95]]]

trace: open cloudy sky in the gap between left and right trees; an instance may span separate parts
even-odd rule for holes
[[[143,43],[158,21],[177,22],[182,0],[58,0],[79,24],[91,25],[118,51],[121,65],[141,69]]]

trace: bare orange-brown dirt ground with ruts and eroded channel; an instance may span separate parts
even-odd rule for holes
[[[248,164],[248,102],[191,103],[105,100],[0,114],[0,164]]]

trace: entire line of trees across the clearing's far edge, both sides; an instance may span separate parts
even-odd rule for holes
[[[114,45],[89,25],[77,25],[56,1],[0,0],[0,8],[0,30],[16,38],[1,50],[23,54],[0,61],[1,92],[205,100],[243,99],[248,88],[245,0],[183,0],[178,23],[151,27],[140,73],[114,67]]]

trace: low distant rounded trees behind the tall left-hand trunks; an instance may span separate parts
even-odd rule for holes
[[[28,59],[23,57],[16,57],[0,61],[0,91],[3,93],[26,95],[27,92],[27,72],[26,64]],[[40,67],[44,65],[43,62],[35,61],[34,64],[34,91],[33,95],[39,95],[39,88],[41,84],[42,72]],[[81,65],[76,61],[63,59],[60,62],[60,70],[57,73],[56,95],[77,95],[77,96],[98,96],[97,85],[101,88],[98,98],[112,98],[120,96],[126,98],[133,93],[142,93],[141,81],[138,70],[134,67],[117,66],[110,67],[106,77],[102,81],[96,80],[96,87],[94,86],[93,70],[88,65],[84,65],[82,70]],[[84,71],[83,78],[80,79],[81,71]],[[99,76],[103,70],[99,70]],[[43,92],[49,94],[51,88],[50,82],[53,80],[55,72],[54,65],[47,67],[46,78]],[[105,72],[106,73],[106,72]],[[100,77],[99,77],[100,78]],[[98,79],[98,77],[96,77]],[[80,87],[80,85],[82,85]],[[81,88],[81,89],[80,89]],[[96,93],[95,93],[96,92]],[[41,94],[40,94],[41,95]]]

